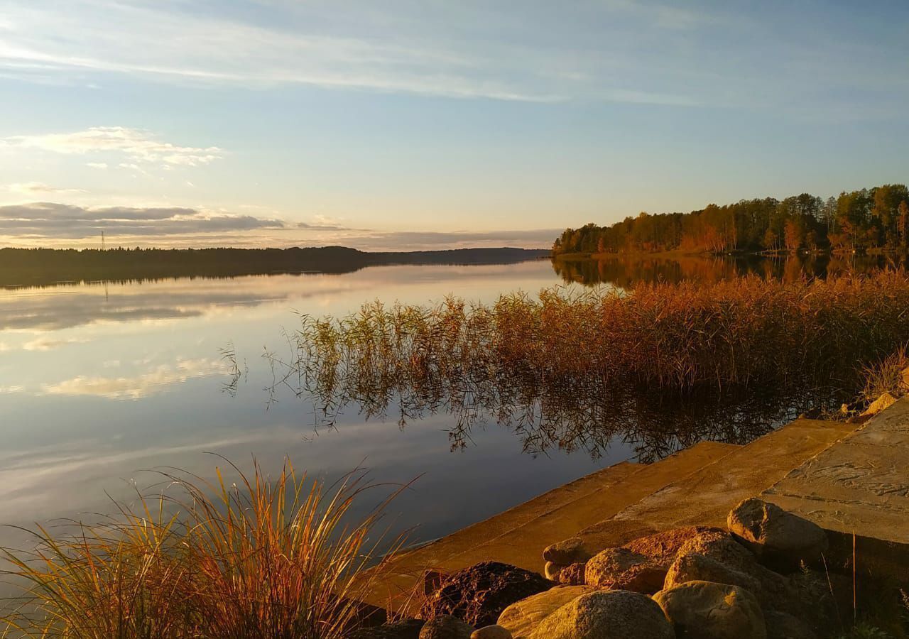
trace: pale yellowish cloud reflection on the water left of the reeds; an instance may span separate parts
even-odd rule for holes
[[[162,364],[148,373],[134,377],[89,377],[80,375],[58,384],[42,386],[44,394],[95,396],[105,399],[142,399],[158,394],[169,385],[183,384],[190,379],[224,374],[227,364],[218,360],[182,360]]]

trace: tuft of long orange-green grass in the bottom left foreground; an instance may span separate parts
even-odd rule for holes
[[[255,465],[239,484],[162,473],[166,494],[138,494],[100,523],[39,527],[34,552],[5,549],[19,595],[3,637],[66,639],[336,639],[360,623],[382,566],[376,524],[386,500],[353,521],[373,487],[269,479]],[[395,550],[397,540],[383,546]],[[365,576],[364,576],[365,575]]]

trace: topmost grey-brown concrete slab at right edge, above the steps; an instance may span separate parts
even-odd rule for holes
[[[830,560],[906,579],[909,564],[909,397],[815,455],[761,497],[831,533]],[[863,566],[864,564],[864,566]]]

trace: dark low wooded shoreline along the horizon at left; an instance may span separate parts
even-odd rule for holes
[[[462,248],[445,251],[365,252],[345,246],[205,249],[0,249],[0,286],[72,282],[342,274],[378,265],[505,265],[544,259],[549,249]]]

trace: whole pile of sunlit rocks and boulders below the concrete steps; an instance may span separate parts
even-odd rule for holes
[[[552,581],[477,564],[428,595],[424,625],[385,624],[358,636],[817,639],[831,632],[836,612],[835,575],[811,570],[826,549],[816,525],[749,499],[729,514],[728,530],[678,528],[599,552],[581,539],[553,544],[544,550]]]

